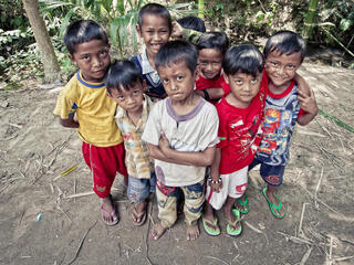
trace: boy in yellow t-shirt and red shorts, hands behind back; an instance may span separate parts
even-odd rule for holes
[[[107,97],[103,83],[111,63],[108,38],[96,22],[80,20],[67,26],[64,43],[80,71],[61,91],[54,114],[60,116],[62,126],[77,128],[83,157],[93,176],[93,190],[101,198],[103,221],[114,225],[119,219],[111,187],[116,171],[125,178],[127,172],[123,139],[114,121],[116,103]]]

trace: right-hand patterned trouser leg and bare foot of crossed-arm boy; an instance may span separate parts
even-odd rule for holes
[[[185,194],[185,218],[187,223],[187,240],[196,240],[199,236],[198,219],[201,215],[205,201],[204,180],[199,183],[181,187]]]

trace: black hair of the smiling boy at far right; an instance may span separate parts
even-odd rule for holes
[[[271,52],[279,52],[280,55],[291,55],[296,52],[301,52],[301,62],[306,53],[306,43],[295,32],[292,31],[278,31],[271,35],[264,46],[263,54],[267,59]]]

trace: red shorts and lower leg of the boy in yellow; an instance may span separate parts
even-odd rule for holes
[[[117,162],[117,155],[124,156],[123,145],[113,147],[96,147],[86,142],[82,145],[82,152],[85,162],[91,169],[93,177],[93,190],[101,198],[101,210],[103,221],[107,225],[118,222],[116,208],[111,198],[111,187],[115,179],[116,171],[122,168]],[[125,168],[123,163],[123,168]],[[124,172],[124,170],[121,170]],[[125,171],[126,174],[126,171]]]

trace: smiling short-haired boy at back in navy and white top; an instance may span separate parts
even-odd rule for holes
[[[166,97],[155,67],[155,60],[159,49],[168,41],[171,28],[170,14],[164,6],[147,3],[139,10],[136,31],[145,43],[145,51],[131,60],[138,66],[147,84],[145,94],[153,100]]]

